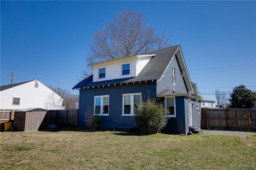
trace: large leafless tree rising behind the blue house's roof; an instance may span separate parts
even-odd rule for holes
[[[165,31],[154,33],[140,12],[124,11],[115,14],[115,20],[94,32],[88,63],[136,55],[168,47],[170,36]]]

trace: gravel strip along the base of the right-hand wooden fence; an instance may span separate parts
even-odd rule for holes
[[[256,135],[256,132],[242,132],[242,131],[220,131],[220,130],[203,130],[199,135],[229,135],[246,137],[250,135]]]

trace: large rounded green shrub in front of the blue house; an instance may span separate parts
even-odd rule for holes
[[[156,98],[142,101],[134,109],[134,115],[138,128],[148,135],[160,132],[168,121],[164,105]]]

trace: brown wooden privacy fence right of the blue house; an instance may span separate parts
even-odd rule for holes
[[[202,129],[256,132],[256,109],[202,108]]]

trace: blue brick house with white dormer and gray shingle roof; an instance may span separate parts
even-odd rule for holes
[[[93,108],[106,128],[136,127],[134,105],[156,96],[170,113],[163,133],[187,134],[201,127],[201,101],[193,88],[180,46],[89,64],[93,72],[76,84],[80,90],[78,125]]]

